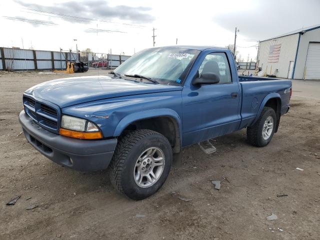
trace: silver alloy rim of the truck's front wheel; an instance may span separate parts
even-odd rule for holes
[[[162,175],[164,169],[164,154],[158,147],[149,147],[137,158],[133,178],[139,187],[152,186]]]

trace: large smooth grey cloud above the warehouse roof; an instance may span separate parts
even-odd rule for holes
[[[217,12],[213,21],[230,31],[237,26],[240,34],[256,40],[320,24],[319,0],[268,0],[252,4],[256,6],[233,12]]]

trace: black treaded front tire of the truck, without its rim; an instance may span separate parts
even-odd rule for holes
[[[149,147],[157,147],[164,155],[164,167],[159,178],[149,187],[140,187],[134,180],[133,171],[138,157]],[[172,148],[162,134],[138,129],[118,139],[111,164],[110,180],[114,188],[134,200],[154,194],[165,182],[172,163]]]

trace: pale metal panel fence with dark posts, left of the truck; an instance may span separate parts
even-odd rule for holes
[[[65,69],[67,61],[79,59],[90,67],[110,69],[130,56],[95,52],[43,51],[0,47],[0,70]]]

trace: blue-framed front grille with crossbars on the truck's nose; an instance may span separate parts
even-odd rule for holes
[[[41,99],[23,96],[24,111],[34,122],[44,129],[58,133],[60,111],[54,104],[43,103]]]

